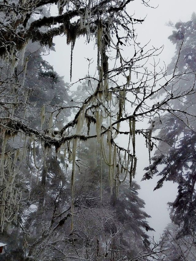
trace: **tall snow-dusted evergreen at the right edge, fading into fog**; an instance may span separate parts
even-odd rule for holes
[[[178,195],[174,202],[168,203],[171,207],[170,217],[177,225],[183,224],[178,236],[189,235],[195,232],[196,224],[196,122],[195,91],[192,88],[195,81],[196,50],[195,50],[196,15],[192,14],[188,22],[178,22],[169,39],[176,44],[176,54],[169,65],[170,70],[176,67],[177,71],[187,68],[193,72],[184,80],[175,81],[171,88],[175,95],[179,90],[190,88],[191,92],[174,101],[168,114],[154,123],[155,129],[161,128],[158,138],[161,140],[154,156],[153,163],[146,167],[147,172],[143,179],[150,179],[154,174],[162,176],[155,189],[161,188],[164,181],[173,181],[178,184]],[[180,55],[178,54],[181,49]],[[174,109],[175,107],[175,109]],[[156,121],[157,119],[155,119]],[[159,169],[159,166],[163,166]]]

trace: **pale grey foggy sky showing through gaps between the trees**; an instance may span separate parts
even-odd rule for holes
[[[191,14],[196,12],[195,0],[150,0],[151,6],[158,6],[156,9],[145,7],[141,5],[141,1],[135,0],[131,2],[128,13],[133,14],[137,18],[143,18],[147,15],[143,24],[137,25],[138,41],[141,44],[149,43],[149,48],[160,47],[164,45],[164,50],[159,58],[168,65],[171,58],[174,56],[175,46],[168,40],[173,28],[165,24],[171,20],[174,24],[179,20],[186,22],[190,20]],[[51,9],[53,15],[57,15],[56,6]],[[66,36],[58,36],[54,39],[56,52],[50,51],[46,56],[46,60],[54,66],[55,71],[64,76],[65,82],[70,81],[70,46],[66,45]],[[94,58],[94,65],[92,65],[91,74],[94,73],[96,67],[97,50],[94,50],[93,44],[85,44],[85,39],[81,37],[76,41],[73,52],[73,82],[79,78],[84,77],[88,73],[88,62],[85,58]],[[145,127],[143,127],[145,128]],[[126,140],[120,140],[126,142]],[[150,181],[142,181],[141,178],[144,174],[144,167],[149,164],[148,150],[145,148],[145,140],[138,136],[137,144],[137,175],[136,181],[141,185],[139,196],[145,200],[145,211],[151,215],[149,218],[149,225],[152,226],[156,232],[149,233],[151,236],[154,234],[155,239],[159,239],[164,227],[170,222],[167,202],[175,199],[177,186],[171,182],[166,182],[164,187],[153,192],[153,188],[158,181],[154,178]]]

